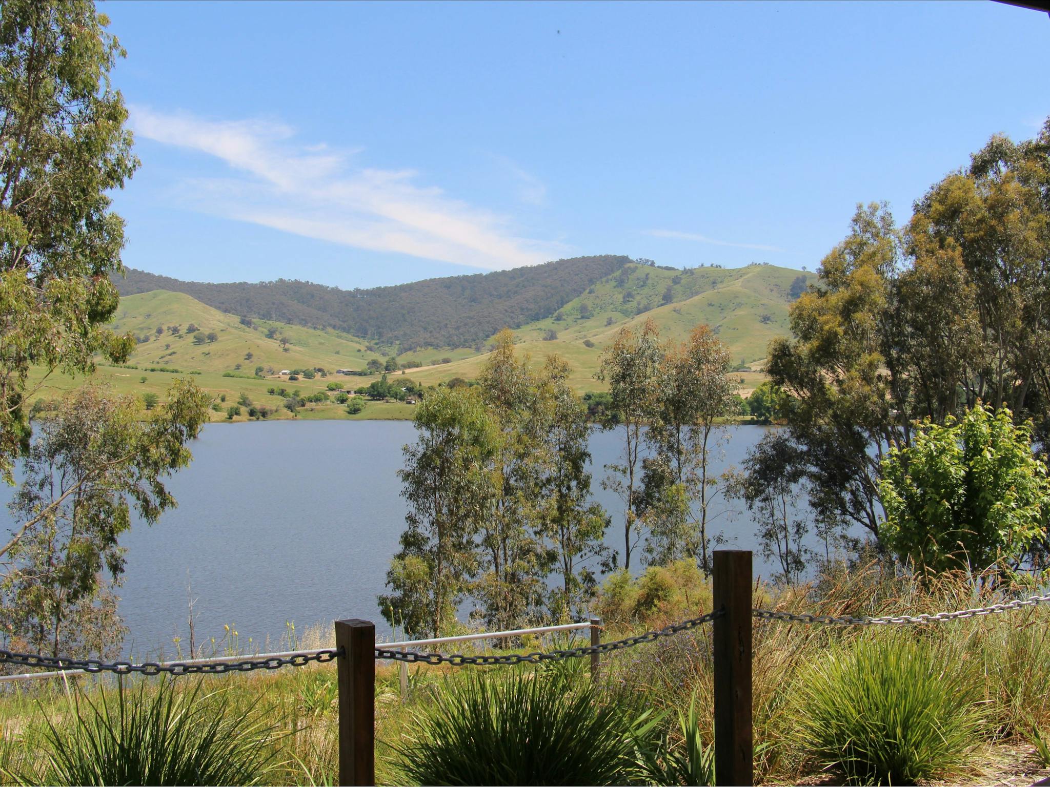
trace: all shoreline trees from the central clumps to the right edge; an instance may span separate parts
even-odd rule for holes
[[[601,481],[623,501],[615,526],[590,498],[566,363],[533,370],[501,333],[478,385],[429,390],[417,411],[382,614],[437,636],[469,599],[479,622],[508,629],[579,614],[598,572],[639,559],[710,573],[734,498],[780,581],[831,560],[833,545],[902,570],[999,566],[1045,581],[1050,120],[1020,144],[993,136],[903,227],[884,204],[858,206],[818,274],[791,309],[792,336],[770,345],[763,395],[784,428],[720,475],[719,419],[739,403],[724,345],[706,325],[681,343],[662,343],[652,321],[616,334],[596,375],[615,413],[605,426],[623,438]],[[620,550],[604,545],[610,527]],[[822,555],[804,546],[811,531]]]

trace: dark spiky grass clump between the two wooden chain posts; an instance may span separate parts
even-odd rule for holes
[[[629,719],[587,682],[467,674],[417,715],[400,767],[417,784],[625,784],[636,771]]]

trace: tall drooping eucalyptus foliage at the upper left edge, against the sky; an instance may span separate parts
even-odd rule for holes
[[[89,0],[9,0],[0,15],[0,477],[29,439],[32,366],[123,363],[117,310],[124,221],[108,194],[139,166],[109,72],[124,56]],[[39,385],[39,383],[38,383]]]

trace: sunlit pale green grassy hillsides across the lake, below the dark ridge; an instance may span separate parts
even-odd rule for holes
[[[711,325],[729,346],[734,363],[755,369],[734,375],[740,391],[747,393],[762,379],[758,369],[764,363],[770,339],[789,331],[789,306],[800,288],[815,279],[815,274],[773,265],[679,271],[624,263],[624,259],[615,258],[615,264],[609,263],[611,272],[607,275],[575,279],[578,292],[563,293],[556,309],[516,328],[520,352],[529,355],[533,364],[542,364],[553,353],[564,357],[573,367],[570,382],[578,390],[602,388],[594,379],[602,349],[623,326],[633,327],[651,318],[659,327],[660,336],[673,340],[681,340],[697,324]],[[538,268],[556,274],[555,279],[563,284],[566,282],[564,273],[568,269],[564,265]],[[587,271],[593,273],[593,265]],[[490,275],[494,274],[485,274]],[[462,284],[463,279],[475,278],[452,277],[432,280],[432,283],[446,281],[455,288]],[[136,281],[142,283],[144,279]],[[197,286],[193,282],[167,281],[185,284],[185,289]],[[480,292],[477,282],[470,286]],[[440,309],[450,307],[448,304],[448,300],[443,300]],[[477,305],[464,306],[458,319],[471,319]],[[425,320],[416,322],[422,324]],[[491,324],[502,327],[510,323],[496,321]],[[324,390],[328,383],[338,381],[353,389],[376,378],[335,376],[335,369],[360,370],[370,360],[380,363],[386,360],[380,352],[381,345],[360,336],[331,326],[308,327],[251,315],[238,316],[207,305],[184,292],[153,290],[124,296],[112,326],[140,339],[129,359],[129,365],[134,368],[103,366],[97,375],[100,380],[122,393],[152,391],[163,398],[175,376],[192,373],[194,381],[216,400],[226,397],[224,410],[213,413],[214,420],[226,420],[225,406],[236,403],[242,393],[255,404],[274,409],[275,418],[291,418],[292,414],[281,408],[284,399],[268,392],[270,387],[298,388],[306,396]],[[195,329],[191,333],[191,328]],[[402,352],[397,357],[398,363],[411,364],[413,368],[395,373],[394,379],[401,377],[424,384],[456,377],[472,379],[487,358],[486,345],[492,334],[495,331],[471,346],[422,346]],[[262,367],[261,377],[255,375],[259,366]],[[162,367],[177,369],[177,373],[158,370]],[[328,370],[329,377],[318,375],[314,380],[289,383],[276,374],[281,369],[318,367]],[[80,384],[80,381],[62,376],[54,376],[48,382],[54,389]],[[333,403],[312,405],[300,410],[298,417],[406,418],[411,414],[410,405],[373,403],[361,414],[350,417],[344,408]],[[239,420],[243,419],[244,416]]]

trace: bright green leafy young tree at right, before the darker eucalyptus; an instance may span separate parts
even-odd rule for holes
[[[1021,560],[1050,522],[1050,481],[1031,431],[980,402],[944,426],[925,421],[910,447],[891,447],[882,463],[883,541],[933,572]]]

